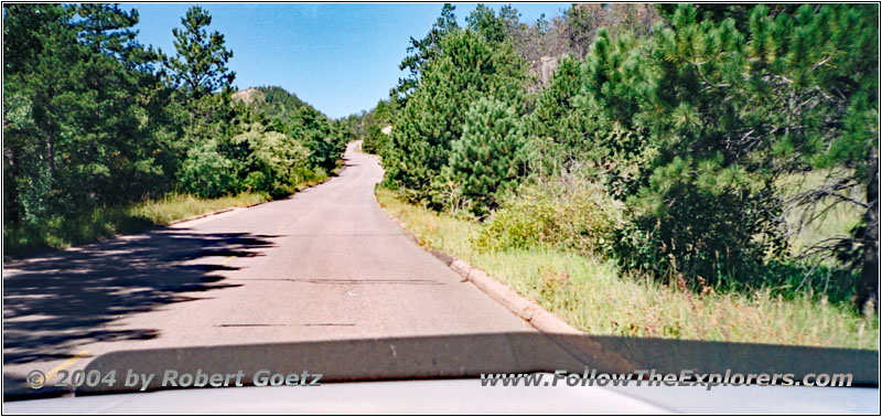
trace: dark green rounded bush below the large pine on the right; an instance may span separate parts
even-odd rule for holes
[[[616,233],[623,266],[690,284],[746,281],[783,254],[774,189],[734,167],[675,158],[626,200],[628,225]],[[703,172],[702,172],[703,170]]]

